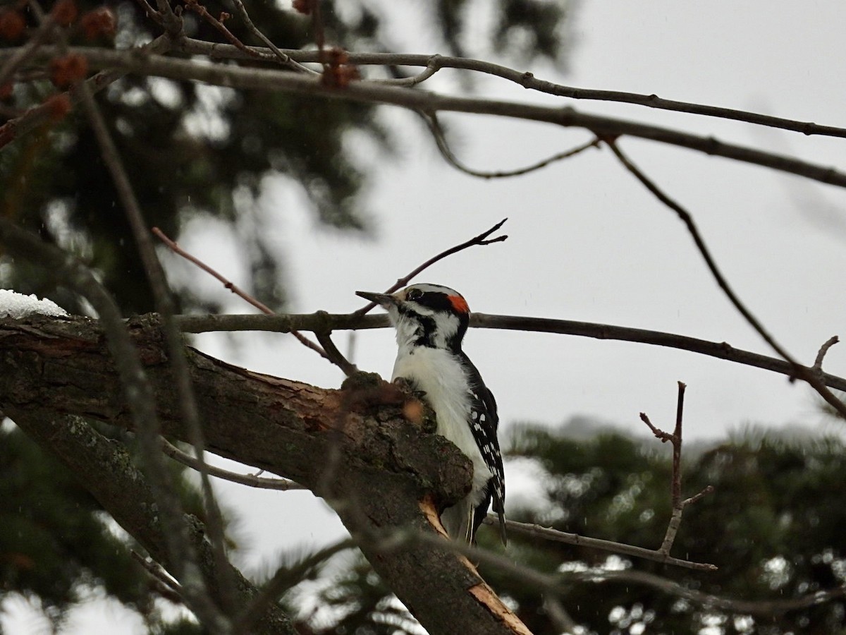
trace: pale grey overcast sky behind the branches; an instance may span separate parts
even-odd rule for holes
[[[571,25],[569,69],[532,68],[571,86],[656,93],[661,97],[754,110],[846,127],[846,3],[726,0],[628,0],[582,3]],[[415,31],[409,52],[434,52]],[[394,41],[401,41],[397,36]],[[483,57],[485,51],[470,51]],[[456,91],[454,75],[431,90]],[[451,79],[452,78],[452,79]],[[503,80],[477,80],[479,94],[571,105]],[[612,113],[723,141],[759,146],[846,169],[844,141],[612,103],[576,102],[585,113]],[[354,239],[316,227],[303,196],[268,183],[261,218],[278,238],[293,286],[293,312],[349,312],[355,290],[383,290],[442,249],[508,217],[510,236],[438,263],[419,281],[448,284],[478,312],[558,317],[656,329],[728,341],[771,354],[729,305],[683,225],[619,167],[593,150],[517,179],[482,180],[445,165],[409,113],[383,109],[402,132],[400,158],[374,173],[368,202],[375,233]],[[583,130],[492,117],[444,115],[453,148],[477,169],[518,168],[590,139]],[[752,312],[800,360],[843,329],[846,191],[650,141],[621,147],[670,196],[688,208],[717,263]],[[369,148],[360,146],[362,160]],[[212,266],[245,282],[239,246],[195,227],[183,241]],[[211,281],[196,276],[197,284]],[[233,301],[231,312],[248,312]],[[338,344],[347,345],[338,334]],[[283,335],[198,338],[200,347],[257,371],[337,387],[342,376]],[[846,375],[846,345],[825,367]],[[638,413],[670,425],[676,382],[688,384],[685,434],[714,438],[747,423],[823,425],[817,400],[781,375],[684,351],[553,334],[471,330],[466,350],[497,395],[506,433],[517,421],[555,426],[587,415],[643,432]],[[357,336],[354,360],[388,376],[393,333]],[[830,425],[830,424],[829,424]],[[507,479],[509,474],[506,467]],[[513,477],[514,481],[519,478]],[[530,483],[516,483],[513,493]],[[257,566],[293,544],[320,546],[342,531],[310,494],[221,486],[243,516],[242,564]],[[514,495],[514,494],[512,494]],[[41,623],[20,605],[3,626],[11,635]],[[68,632],[143,632],[125,611],[102,604],[74,613]]]

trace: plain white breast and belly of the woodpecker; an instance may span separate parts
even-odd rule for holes
[[[412,380],[418,389],[426,392],[423,399],[437,415],[437,433],[456,444],[473,462],[473,489],[467,502],[475,507],[481,502],[482,488],[492,474],[467,423],[470,394],[464,368],[445,349],[415,346],[409,350],[401,345],[393,366],[393,379],[398,377]]]

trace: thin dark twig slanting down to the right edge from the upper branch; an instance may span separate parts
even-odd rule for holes
[[[667,194],[665,194],[648,176],[641,172],[640,168],[634,165],[634,163],[629,160],[629,157],[620,150],[616,141],[613,139],[605,139],[604,141],[606,145],[611,148],[620,163],[623,164],[624,168],[629,170],[631,174],[634,174],[634,177],[638,179],[647,190],[651,191],[651,193],[660,202],[672,209],[673,212],[678,215],[678,218],[687,228],[689,235],[693,238],[696,248],[699,250],[702,259],[706,263],[706,267],[711,272],[711,276],[717,281],[717,285],[720,289],[722,289],[722,292],[726,295],[726,297],[728,297],[728,300],[733,304],[734,308],[737,309],[740,315],[745,318],[746,322],[749,323],[759,335],[761,335],[761,338],[770,345],[773,351],[776,351],[779,356],[790,364],[793,368],[794,375],[797,378],[803,379],[805,382],[810,384],[810,386],[815,389],[816,392],[821,395],[821,397],[826,400],[841,417],[846,418],[846,404],[839,400],[831,390],[827,389],[826,385],[823,384],[820,378],[817,377],[817,373],[815,373],[812,368],[806,367],[797,362],[794,357],[791,356],[788,351],[786,351],[782,345],[780,345],[764,328],[763,324],[752,314],[749,308],[740,301],[739,296],[734,293],[731,285],[728,284],[728,279],[722,275],[722,272],[717,267],[717,262],[715,262],[714,258],[711,256],[711,251],[708,249],[708,246],[706,246],[705,240],[700,235],[699,229],[697,229],[690,213],[684,209],[684,207],[681,207],[678,202],[673,201],[672,198],[667,196]]]

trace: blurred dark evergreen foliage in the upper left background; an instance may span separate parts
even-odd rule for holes
[[[73,43],[126,47],[150,41],[160,33],[144,16],[139,2],[74,1],[80,15],[102,6],[112,8],[118,30],[114,41],[98,36],[94,42],[85,39],[84,31],[76,30]],[[44,0],[42,5],[49,10],[54,3]],[[233,14],[227,20],[228,29],[244,42],[259,43],[229,3],[208,0],[202,4],[215,16]],[[314,46],[310,19],[295,12],[288,2],[246,0],[244,4],[254,24],[277,46]],[[401,41],[402,34],[385,32],[387,14],[408,14],[409,20],[419,20],[422,13],[426,23],[406,23],[404,27],[442,34],[442,46],[450,52],[464,51],[470,25],[474,36],[480,35],[479,8],[470,3],[439,2],[422,11],[415,4],[408,0],[383,4],[322,0],[327,43],[348,50],[390,51],[387,42]],[[500,19],[491,25],[486,40],[496,42],[503,59],[518,55],[524,60],[545,57],[560,61],[565,50],[564,7],[542,0],[498,0],[488,9]],[[29,10],[21,14],[30,27],[36,25]],[[184,19],[189,36],[221,41],[220,33],[190,10],[184,11]],[[3,41],[0,35],[0,46],[21,41]],[[368,69],[364,72],[366,75]],[[47,79],[19,82],[8,97],[0,99],[0,124],[43,102],[54,91]],[[375,108],[342,100],[127,75],[102,91],[97,101],[129,167],[147,224],[179,237],[185,222],[203,213],[238,230],[239,245],[252,273],[252,292],[274,309],[284,305],[285,284],[278,250],[268,242],[267,232],[255,229],[253,203],[262,179],[272,174],[287,178],[292,188],[305,194],[321,224],[366,231],[373,222],[360,200],[367,174],[347,143],[348,133],[356,130],[369,136],[382,152],[391,152],[398,143],[398,135],[379,123]],[[0,213],[84,257],[102,273],[104,283],[128,314],[152,310],[151,293],[112,179],[80,113],[0,149]],[[53,288],[49,272],[37,268],[19,263],[0,268],[0,286],[47,295],[71,312],[78,310],[72,296]],[[213,301],[189,289],[178,291],[183,307],[217,308]]]

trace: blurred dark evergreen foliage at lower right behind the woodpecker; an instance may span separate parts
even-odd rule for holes
[[[561,531],[650,549],[660,546],[670,516],[671,450],[656,439],[601,429],[574,433],[523,425],[514,430],[510,456],[539,473],[542,505],[509,503],[510,517]],[[541,538],[509,537],[509,558],[536,571],[625,566],[651,572],[706,594],[728,599],[795,599],[846,583],[846,445],[842,439],[783,439],[748,433],[720,444],[692,445],[683,456],[687,497],[711,484],[708,494],[684,512],[673,555],[711,562],[717,572],[693,572]],[[525,467],[525,466],[524,466]],[[480,546],[502,549],[496,533],[483,529]],[[541,594],[495,568],[480,572],[501,597],[516,606],[535,635],[558,635]],[[316,630],[343,633],[417,633],[419,627],[387,621],[395,607],[376,596],[368,566],[351,566],[320,597],[341,607],[343,620]],[[341,589],[339,591],[338,589]],[[594,633],[842,633],[846,599],[810,608],[750,616],[696,605],[631,582],[573,582],[562,603],[574,621]],[[390,611],[384,611],[388,608]],[[350,629],[347,624],[361,630]],[[364,626],[361,626],[364,625]],[[710,627],[710,630],[703,630]]]

